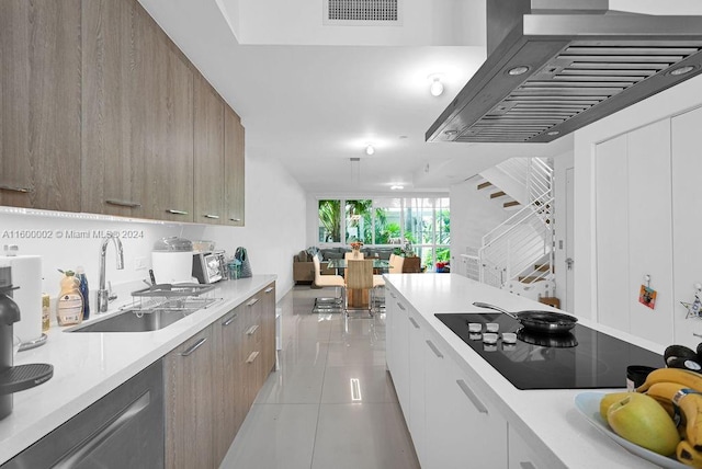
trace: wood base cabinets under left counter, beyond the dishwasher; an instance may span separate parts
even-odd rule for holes
[[[271,283],[165,357],[166,467],[218,467],[274,364]]]

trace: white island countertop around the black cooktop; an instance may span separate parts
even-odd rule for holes
[[[577,411],[575,397],[592,390],[520,390],[502,377],[480,355],[434,317],[437,312],[487,311],[473,306],[484,301],[511,310],[557,309],[471,281],[456,274],[386,274],[386,282],[412,305],[452,358],[475,381],[483,393],[514,426],[526,443],[547,461],[550,468],[655,468],[657,466],[629,453],[602,435]],[[589,328],[608,333],[653,352],[664,347],[633,335],[579,319]],[[663,359],[661,359],[663,366]],[[624,378],[623,378],[624,379]],[[623,390],[623,389],[619,389]],[[597,390],[600,391],[600,390]],[[611,390],[603,389],[602,392]]]

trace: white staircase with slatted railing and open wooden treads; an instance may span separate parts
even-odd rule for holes
[[[477,188],[517,211],[486,233],[474,254],[464,255],[475,279],[533,299],[553,295],[552,174],[541,158],[513,158],[480,173],[485,181]]]

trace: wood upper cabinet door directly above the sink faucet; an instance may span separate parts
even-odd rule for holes
[[[83,211],[149,211],[146,161],[156,147],[156,90],[165,68],[152,24],[133,0],[83,2]]]

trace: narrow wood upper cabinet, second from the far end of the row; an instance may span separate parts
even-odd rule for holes
[[[202,77],[195,79],[194,221],[222,224],[224,214],[224,101]]]

